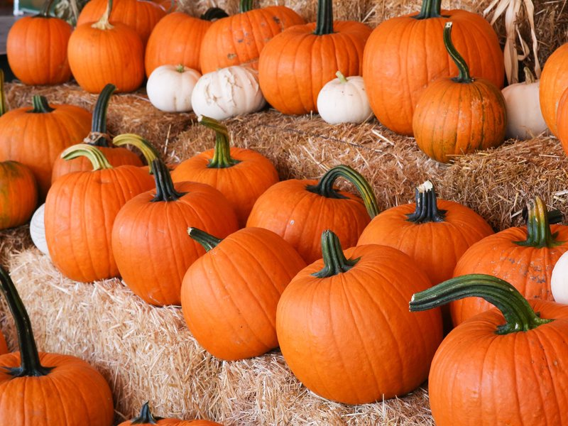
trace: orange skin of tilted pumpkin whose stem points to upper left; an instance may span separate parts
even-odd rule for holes
[[[187,270],[182,284],[187,327],[210,354],[226,361],[274,349],[278,300],[305,266],[297,251],[272,231],[236,231]]]

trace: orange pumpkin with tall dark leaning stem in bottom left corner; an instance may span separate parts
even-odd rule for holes
[[[20,346],[0,356],[0,425],[111,426],[112,394],[101,373],[75,356],[38,353],[26,307],[2,268],[0,289]]]

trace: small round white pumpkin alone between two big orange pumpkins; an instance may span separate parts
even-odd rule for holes
[[[341,72],[317,95],[317,111],[326,123],[362,123],[373,115],[363,77],[344,77]]]

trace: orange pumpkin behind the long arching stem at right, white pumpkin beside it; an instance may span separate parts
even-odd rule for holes
[[[526,227],[505,229],[471,246],[459,259],[454,277],[493,275],[514,285],[529,300],[554,300],[550,278],[555,263],[568,251],[568,226],[550,226],[546,206],[538,197],[528,210]],[[450,312],[457,325],[490,308],[485,300],[469,297],[452,302]]]

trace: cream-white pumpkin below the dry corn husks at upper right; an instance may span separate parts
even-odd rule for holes
[[[540,80],[535,81],[525,67],[525,82],[510,84],[501,91],[507,107],[507,138],[524,141],[547,129],[540,111],[539,86]]]

